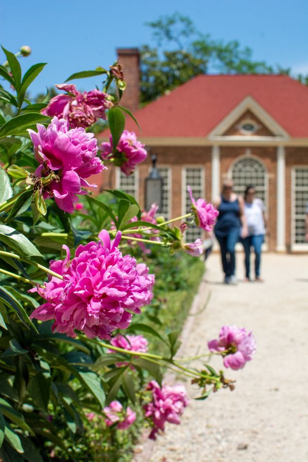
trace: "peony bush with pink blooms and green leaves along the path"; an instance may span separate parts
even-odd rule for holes
[[[211,356],[238,370],[255,352],[251,332],[223,326],[200,355],[200,369],[191,367],[189,358],[177,358],[179,332],[163,332],[157,317],[151,249],[168,249],[170,258],[202,255],[202,241],[186,242],[185,230],[197,225],[209,232],[218,211],[190,188],[190,213],[168,221],[156,219],[156,204],[142,210],[123,191],[94,196],[92,175],[104,176],[110,166],[130,175],[147,157],[136,134],[125,130],[125,118],[134,117],[120,105],[121,66],[72,74],[56,85],[65,93],[31,103],[28,87],[45,63],[22,75],[18,56],[29,47],[3,51],[0,458],[128,460],[140,427],[155,439],[167,423],[179,425],[189,405],[182,383],[163,382],[166,368],[205,399],[234,389],[209,365]],[[103,78],[102,89],[81,92],[67,83],[88,76]],[[100,119],[108,121],[110,141],[98,145],[93,131]],[[152,351],[151,338],[167,354]]]

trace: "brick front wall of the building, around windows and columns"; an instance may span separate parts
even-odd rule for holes
[[[220,147],[220,173],[221,183],[228,176],[233,163],[246,155],[247,147]],[[149,174],[151,166],[150,155],[157,156],[158,167],[170,167],[172,175],[172,216],[182,214],[182,168],[187,166],[202,166],[204,168],[205,199],[211,198],[211,148],[204,147],[178,147],[156,146],[151,147],[146,161],[139,166],[139,199],[141,207],[144,206],[144,180]],[[267,237],[269,251],[276,249],[277,234],[277,148],[276,147],[249,147],[251,156],[259,159],[267,171],[267,214],[269,219],[270,236]],[[285,235],[287,250],[291,249],[291,218],[292,218],[292,169],[295,166],[308,166],[308,148],[292,147],[285,149]],[[109,167],[91,181],[99,184],[98,191],[103,188],[115,186],[114,168]]]

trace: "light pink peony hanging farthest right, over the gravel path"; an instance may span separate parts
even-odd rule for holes
[[[226,368],[234,370],[242,369],[247,361],[253,359],[256,351],[252,332],[235,325],[223,326],[219,338],[210,340],[207,345],[211,352],[221,353]]]

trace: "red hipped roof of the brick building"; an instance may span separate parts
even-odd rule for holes
[[[308,87],[285,75],[198,75],[134,113],[141,137],[206,137],[252,96],[291,137],[308,137]]]

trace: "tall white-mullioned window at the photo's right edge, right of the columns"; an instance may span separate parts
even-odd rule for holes
[[[292,230],[293,244],[305,244],[305,219],[308,204],[308,168],[293,171]]]

